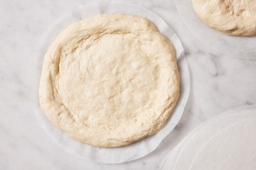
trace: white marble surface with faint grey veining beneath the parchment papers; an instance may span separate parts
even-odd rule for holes
[[[33,112],[37,43],[56,19],[86,1],[0,0],[0,169],[157,169],[194,127],[228,109],[256,104],[255,60],[230,58],[204,45],[181,21],[173,1],[136,3],[163,17],[186,49],[192,83],[175,130],[148,156],[117,165],[87,162],[60,148]]]

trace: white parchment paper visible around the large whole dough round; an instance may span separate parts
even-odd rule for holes
[[[103,1],[97,2],[95,4],[88,4],[78,8],[77,10],[58,20],[58,22],[55,23],[55,25],[53,25],[48,32],[46,32],[45,36],[40,42],[39,48],[39,70],[37,70],[39,72],[37,78],[38,85],[42,69],[43,56],[45,55],[46,50],[51,45],[52,41],[58,35],[58,33],[66,28],[66,26],[70,23],[99,13],[126,13],[146,17],[157,26],[162,34],[164,34],[167,38],[169,38],[170,41],[172,41],[173,47],[176,51],[176,58],[181,74],[181,94],[173,113],[170,115],[170,118],[166,123],[166,126],[164,126],[164,128],[155,135],[148,136],[147,138],[134,142],[133,144],[126,147],[99,148],[75,141],[74,139],[69,138],[66,133],[62,132],[60,129],[57,129],[57,127],[51,124],[43,111],[40,109],[38,96],[37,99],[35,99],[37,101],[36,115],[42,124],[43,129],[45,129],[45,131],[52,137],[52,139],[54,139],[55,142],[57,142],[57,144],[59,144],[65,150],[69,151],[69,153],[72,153],[82,159],[98,163],[128,162],[131,160],[139,159],[140,157],[143,157],[146,154],[154,151],[155,148],[157,148],[160,142],[164,139],[164,137],[166,137],[174,129],[176,124],[178,124],[178,121],[183,114],[187,99],[189,97],[189,68],[187,66],[184,49],[179,38],[157,14],[146,9],[145,7],[128,2]],[[37,90],[36,93],[38,93]]]

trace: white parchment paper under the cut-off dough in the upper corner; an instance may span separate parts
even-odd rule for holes
[[[183,22],[199,40],[225,55],[256,59],[256,36],[239,37],[223,34],[204,23],[192,7],[192,0],[175,0],[175,5]]]

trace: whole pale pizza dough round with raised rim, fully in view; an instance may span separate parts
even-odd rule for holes
[[[175,51],[149,20],[99,14],[69,25],[46,52],[40,106],[73,139],[121,147],[158,132],[176,105]]]

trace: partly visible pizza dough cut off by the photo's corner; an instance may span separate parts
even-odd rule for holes
[[[207,25],[228,35],[256,35],[255,0],[192,0],[195,13]]]

